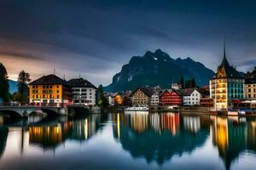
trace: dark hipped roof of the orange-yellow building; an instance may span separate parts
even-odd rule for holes
[[[29,84],[30,85],[55,85],[55,84],[67,85],[67,81],[61,79],[60,77],[50,74],[48,76],[40,77]]]

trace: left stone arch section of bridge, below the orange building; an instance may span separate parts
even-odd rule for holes
[[[67,115],[67,108],[54,106],[0,106],[0,112],[12,117],[26,117],[33,112],[43,111],[47,116]]]

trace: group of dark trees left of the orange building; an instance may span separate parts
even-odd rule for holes
[[[9,94],[9,80],[8,72],[5,66],[0,63],[0,99],[3,102],[19,101],[21,104],[28,103],[29,88],[28,83],[31,81],[29,73],[20,71],[18,77],[18,91],[14,94]]]

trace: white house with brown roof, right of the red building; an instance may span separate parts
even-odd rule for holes
[[[183,94],[183,105],[200,105],[201,93],[196,88],[179,90]]]

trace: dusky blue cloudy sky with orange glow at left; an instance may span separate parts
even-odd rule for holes
[[[16,79],[47,74],[108,85],[134,55],[158,48],[216,71],[256,66],[256,1],[1,0],[0,62]],[[65,75],[65,76],[64,76]]]

